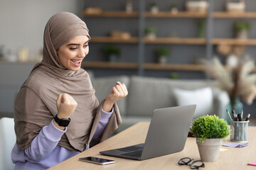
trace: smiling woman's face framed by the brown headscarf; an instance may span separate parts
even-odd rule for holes
[[[81,67],[82,60],[89,52],[89,38],[87,35],[79,35],[60,46],[57,50],[60,63],[66,69],[78,71]]]

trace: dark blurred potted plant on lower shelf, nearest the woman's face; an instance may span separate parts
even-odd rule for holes
[[[120,55],[120,49],[117,45],[106,45],[103,48],[103,52],[107,56],[109,62],[116,62]]]

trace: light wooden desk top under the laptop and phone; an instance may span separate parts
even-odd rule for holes
[[[120,132],[119,134],[111,137],[108,140],[87,149],[75,157],[72,157],[65,162],[62,162],[56,166],[50,168],[50,170],[65,170],[65,169],[190,169],[189,166],[179,166],[178,160],[183,157],[191,157],[193,159],[200,159],[198,147],[196,145],[196,138],[188,137],[186,145],[183,151],[169,154],[162,157],[156,157],[152,159],[146,159],[144,161],[135,161],[131,159],[122,159],[117,157],[107,157],[99,152],[107,149],[114,149],[119,147],[127,147],[129,145],[136,145],[144,142],[146,138],[146,132],[149,128],[149,123],[137,123],[136,125]],[[256,127],[249,127],[249,145],[242,148],[223,147],[228,151],[220,152],[217,162],[205,162],[206,167],[201,169],[256,169],[255,166],[249,166],[247,163],[256,161]],[[223,143],[230,142],[223,140]],[[171,144],[170,144],[171,145]],[[116,163],[109,165],[97,165],[87,162],[80,162],[80,157],[101,157],[107,159],[114,159]]]

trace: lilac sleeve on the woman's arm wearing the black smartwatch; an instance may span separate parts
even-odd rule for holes
[[[31,146],[25,149],[26,155],[34,161],[40,161],[47,157],[53,149],[58,145],[60,138],[65,133],[65,130],[60,130],[51,123],[42,128],[39,134],[31,142]]]

